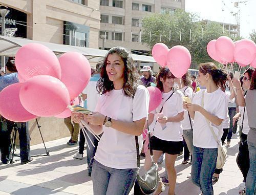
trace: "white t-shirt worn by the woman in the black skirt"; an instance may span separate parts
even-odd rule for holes
[[[165,100],[172,94],[174,91],[171,90],[168,93],[162,93],[162,102],[161,104],[157,107],[155,111],[152,111],[154,116],[154,120],[151,123],[150,129],[151,131],[153,130],[154,126],[154,133],[153,135],[156,136],[157,138],[165,141],[182,141],[182,135],[183,135],[183,130],[181,126],[181,122],[167,122],[166,123],[166,128],[162,129],[162,126],[159,122],[157,121],[158,115],[159,114],[162,106],[163,106],[163,116],[166,117],[174,117],[178,115],[179,113],[183,112],[183,100],[182,100],[182,92],[177,90],[174,92],[172,97],[170,97],[166,102]]]

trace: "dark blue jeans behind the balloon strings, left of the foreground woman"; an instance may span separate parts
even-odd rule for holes
[[[88,134],[88,135],[86,134],[86,139],[87,139],[86,152],[87,152],[87,165],[88,165],[87,168],[88,168],[88,172],[90,174],[92,172],[92,166],[93,166],[93,160],[92,159],[94,158],[97,147],[98,147],[98,140],[87,129],[86,129],[86,132]],[[84,139],[84,135],[81,131],[80,131],[80,139],[81,139],[81,134],[82,134],[82,137]],[[93,147],[93,145],[92,145],[88,136],[92,140],[95,147]],[[83,142],[83,145],[84,145],[84,142]],[[90,149],[89,149],[89,147],[90,147]],[[83,146],[82,146],[82,148],[83,148]],[[79,153],[80,153],[80,150],[81,150],[81,148],[80,148],[80,143],[79,143]],[[83,153],[80,153],[80,154],[83,154]]]

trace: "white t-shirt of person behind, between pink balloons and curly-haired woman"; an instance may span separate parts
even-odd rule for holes
[[[94,78],[94,77],[92,77]],[[87,94],[87,109],[94,111],[99,99],[99,93],[96,88],[97,80],[91,79],[86,88],[82,91],[83,94]]]

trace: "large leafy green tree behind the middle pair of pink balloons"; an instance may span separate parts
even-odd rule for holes
[[[176,45],[186,47],[190,51],[192,64],[194,65],[191,68],[196,68],[196,64],[201,62],[214,61],[207,54],[206,47],[208,42],[223,35],[229,36],[226,31],[223,33],[221,24],[209,20],[200,21],[197,14],[185,12],[184,10],[176,10],[173,15],[152,14],[146,16],[142,19],[142,26],[142,42],[145,42],[150,48],[160,42],[160,31],[162,32],[161,42],[169,48]],[[149,41],[150,34],[151,41]]]

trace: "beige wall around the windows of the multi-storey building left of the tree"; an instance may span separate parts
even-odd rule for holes
[[[152,13],[160,13],[161,7],[172,9],[185,9],[185,0],[123,0],[123,8],[113,7],[113,0],[109,0],[109,6],[100,6],[101,14],[109,16],[109,23],[100,23],[100,31],[108,32],[109,39],[103,41],[100,37],[99,48],[112,48],[115,46],[123,46],[127,50],[144,50],[151,49],[143,42],[131,42],[131,35],[138,35],[140,39],[140,31],[142,31],[141,20],[143,17]],[[139,4],[139,10],[132,10],[132,3]],[[151,12],[142,11],[142,5],[150,5]],[[123,17],[123,25],[112,24],[112,16]],[[132,18],[139,19],[139,26],[132,26]],[[123,40],[112,40],[112,32],[123,33]],[[104,43],[103,43],[104,42]]]

